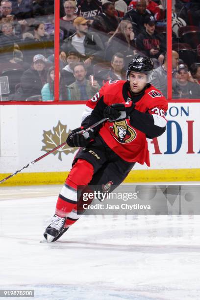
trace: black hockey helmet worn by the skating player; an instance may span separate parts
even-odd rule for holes
[[[137,55],[128,65],[126,79],[129,80],[130,72],[138,72],[147,75],[147,83],[151,82],[154,71],[152,59],[146,56]]]

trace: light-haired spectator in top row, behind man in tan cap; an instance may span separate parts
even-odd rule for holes
[[[75,33],[73,21],[77,18],[76,1],[67,0],[63,3],[65,9],[65,16],[60,19],[60,28],[64,31],[64,39]]]

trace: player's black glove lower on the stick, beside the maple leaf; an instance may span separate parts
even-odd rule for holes
[[[90,141],[95,137],[94,130],[90,129],[89,131],[81,134],[81,133],[76,133],[82,129],[85,128],[75,128],[72,130],[72,132],[68,135],[67,138],[67,144],[70,147],[85,147],[87,144],[90,143]]]

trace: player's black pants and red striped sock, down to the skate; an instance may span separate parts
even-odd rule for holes
[[[75,156],[73,167],[58,196],[55,214],[67,218],[65,227],[73,225],[80,216],[77,215],[77,187],[102,186],[109,181],[113,186],[118,186],[134,164],[120,158],[99,136],[96,137]]]

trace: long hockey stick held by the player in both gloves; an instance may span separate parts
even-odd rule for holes
[[[101,123],[105,122],[106,120],[108,120],[108,118],[104,118],[104,119],[100,120],[99,122],[97,122],[97,123],[91,125],[90,127],[86,128],[86,129],[82,129],[82,130],[80,130],[80,131],[78,131],[78,132],[75,132],[75,133],[76,133],[76,134],[77,134],[77,133],[83,134],[83,133],[89,131],[90,129],[92,129],[92,128],[98,126],[98,125],[100,125]],[[6,178],[0,180],[0,183],[3,183],[3,182],[6,181],[7,179],[9,179],[9,178],[11,178],[11,177],[17,175],[17,174],[20,173],[22,170],[28,168],[31,164],[35,164],[36,162],[38,162],[39,160],[41,160],[41,159],[44,158],[45,156],[49,155],[50,153],[52,153],[52,152],[54,152],[55,150],[57,150],[57,149],[63,147],[63,146],[66,145],[66,144],[67,144],[67,143],[64,142],[64,143],[58,145],[57,147],[53,148],[53,149],[50,150],[49,152],[45,153],[44,155],[42,155],[42,156],[36,158],[35,160],[31,161],[29,164],[27,164],[26,166],[24,166],[22,169],[20,169],[20,170],[16,171],[15,173],[13,173],[13,174],[7,176]]]

